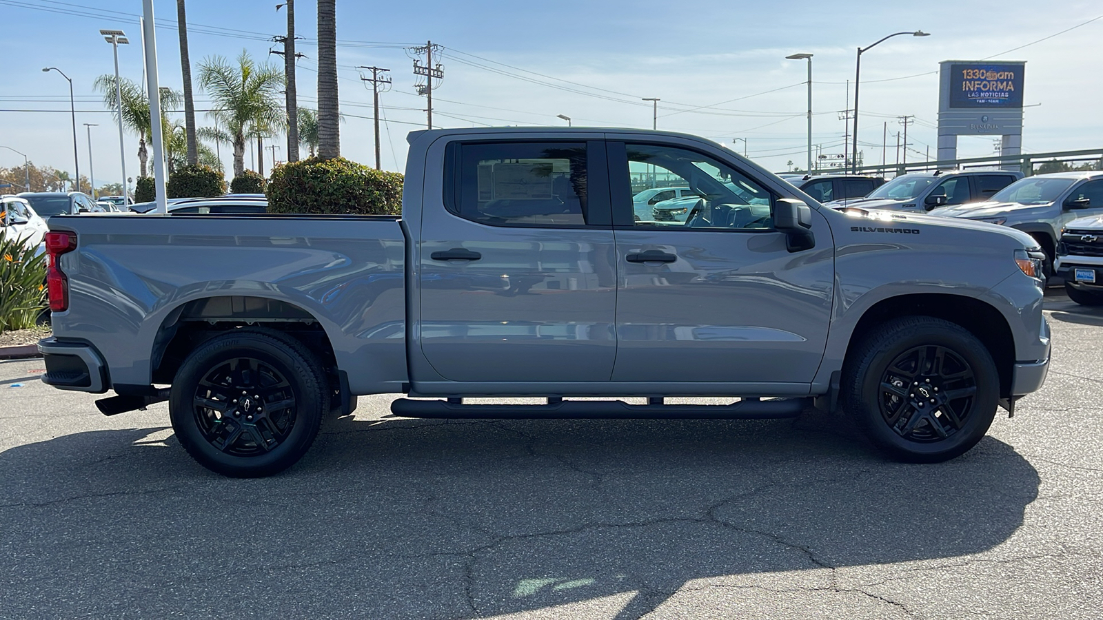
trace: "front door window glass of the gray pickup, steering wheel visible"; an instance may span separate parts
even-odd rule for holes
[[[688,185],[679,199],[656,204],[652,217],[639,217],[636,227],[702,229],[767,229],[770,192],[728,164],[695,151],[653,145],[628,145],[632,189],[651,183]],[[623,182],[613,179],[612,182]]]

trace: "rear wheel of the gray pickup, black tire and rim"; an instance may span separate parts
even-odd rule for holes
[[[301,342],[260,329],[204,342],[180,366],[169,397],[180,445],[203,467],[233,478],[271,475],[298,462],[329,409],[315,356]]]

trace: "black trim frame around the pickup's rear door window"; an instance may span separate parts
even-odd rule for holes
[[[464,145],[553,145],[553,143],[577,143],[586,145],[586,193],[587,211],[589,222],[582,225],[575,224],[516,224],[495,223],[471,220],[461,215],[459,210],[460,188],[463,183],[462,171],[462,148]],[[568,231],[608,231],[612,228],[612,207],[609,201],[609,170],[606,162],[606,142],[600,139],[579,138],[526,138],[523,140],[510,138],[484,138],[480,140],[454,140],[445,147],[445,183],[443,203],[445,211],[464,222],[479,224],[482,226],[493,226],[496,228],[553,228]],[[595,191],[597,190],[597,191]]]

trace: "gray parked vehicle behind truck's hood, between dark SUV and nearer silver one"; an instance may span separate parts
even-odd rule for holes
[[[833,201],[827,206],[924,213],[940,206],[989,200],[1021,178],[1021,172],[1008,170],[911,172],[892,179],[866,197]]]

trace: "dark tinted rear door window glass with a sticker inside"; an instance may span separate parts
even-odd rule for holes
[[[449,211],[505,226],[588,224],[586,145],[460,145],[459,179]]]

